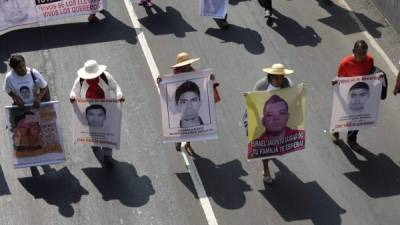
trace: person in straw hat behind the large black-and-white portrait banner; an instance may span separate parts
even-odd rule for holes
[[[192,63],[199,61],[200,58],[191,58],[190,55],[186,52],[181,52],[176,56],[176,64],[171,66],[173,69],[173,74],[177,75],[180,73],[186,73],[186,72],[193,72],[195,69],[192,67]],[[219,85],[218,82],[215,81],[215,75],[211,74],[210,75],[210,80],[213,81],[214,84],[214,101],[219,102],[220,97],[218,94],[217,86]],[[161,78],[157,78],[157,83],[161,82]],[[175,143],[175,149],[176,151],[181,151],[181,142],[176,142]],[[190,145],[190,142],[186,142],[185,144],[185,150],[186,152],[190,155],[193,156],[194,150],[192,146]]]

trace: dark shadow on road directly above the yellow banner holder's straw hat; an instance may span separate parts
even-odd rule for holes
[[[279,33],[290,45],[315,47],[321,42],[321,37],[310,26],[303,27],[297,21],[287,17],[276,9],[273,10],[271,28]]]

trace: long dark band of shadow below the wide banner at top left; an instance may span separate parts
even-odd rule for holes
[[[0,72],[7,70],[10,54],[39,51],[66,46],[126,40],[136,44],[136,32],[109,12],[97,23],[87,22],[32,27],[7,32],[0,35]]]

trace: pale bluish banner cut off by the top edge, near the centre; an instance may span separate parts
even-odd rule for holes
[[[228,11],[228,0],[199,0],[200,16],[223,19]]]

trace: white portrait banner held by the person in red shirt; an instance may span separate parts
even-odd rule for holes
[[[376,126],[381,79],[381,73],[338,78],[333,91],[331,132]]]

